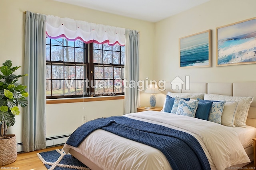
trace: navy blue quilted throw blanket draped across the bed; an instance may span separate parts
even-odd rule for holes
[[[94,130],[103,129],[160,150],[173,170],[210,170],[200,143],[190,134],[124,116],[100,118],[84,123],[66,144],[78,147]]]

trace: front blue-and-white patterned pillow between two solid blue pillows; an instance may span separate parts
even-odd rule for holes
[[[198,102],[199,100],[186,101],[180,99],[176,114],[195,117]]]

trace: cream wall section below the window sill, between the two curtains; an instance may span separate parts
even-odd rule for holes
[[[124,114],[123,100],[78,102],[71,104],[48,104],[46,106],[47,137],[71,134],[82,123],[99,117]]]

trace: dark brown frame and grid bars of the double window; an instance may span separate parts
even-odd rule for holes
[[[51,93],[51,96],[47,96],[46,95],[46,99],[49,100],[49,99],[52,99],[52,100],[65,100],[65,99],[70,99],[72,100],[72,98],[89,98],[89,97],[99,97],[99,96],[120,96],[120,95],[124,95],[124,87],[122,86],[122,92],[121,93],[112,93],[109,95],[109,93],[103,93],[103,94],[96,94],[94,92],[94,86],[95,86],[95,80],[94,80],[94,70],[95,70],[95,67],[96,66],[100,66],[103,64],[100,63],[94,63],[94,43],[89,43],[89,44],[86,44],[86,43],[83,43],[83,47],[82,49],[84,49],[84,61],[83,63],[81,62],[75,62],[76,60],[76,52],[74,52],[74,62],[68,62],[68,61],[51,61],[51,56],[52,56],[52,46],[60,46],[62,47],[62,59],[64,59],[64,47],[70,47],[70,46],[67,46],[67,45],[64,45],[64,39],[65,38],[61,38],[62,39],[62,45],[54,45],[52,44],[52,39],[50,39],[50,44],[47,43],[46,41],[46,47],[49,46],[50,47],[50,61],[49,60],[46,60],[46,66],[49,66],[50,65],[50,70],[51,70],[51,74],[50,74],[50,78],[46,78],[46,82],[47,80],[50,80],[50,93]],[[112,46],[111,46],[112,47]],[[76,50],[76,45],[74,45],[74,51]],[[81,47],[79,47],[81,48]],[[112,54],[113,54],[113,47],[111,48],[112,49]],[[123,52],[122,49],[120,48],[120,52]],[[121,56],[121,53],[120,53],[120,56]],[[113,60],[113,55],[112,55],[112,60]],[[120,59],[121,60],[121,59]],[[120,61],[121,62],[121,61]],[[112,62],[113,63],[113,62]],[[61,65],[63,66],[63,78],[62,79],[53,79],[52,78],[52,66],[53,65]],[[84,94],[76,94],[76,95],[65,95],[65,66],[69,66],[69,65],[72,65],[72,66],[75,66],[75,70],[76,70],[76,66],[78,65],[82,65],[82,66],[86,66],[87,68],[84,68],[84,79],[83,80],[88,80],[89,82],[89,86],[85,86],[84,85],[84,88],[83,88],[83,92]],[[120,67],[121,68],[121,76],[122,76],[122,80],[124,80],[124,74],[123,74],[123,70],[124,70],[124,64],[104,64],[104,66],[110,66],[112,67],[112,70],[114,69],[114,67]],[[114,74],[114,72],[113,72]],[[75,73],[75,76],[76,76],[76,73]],[[63,80],[63,95],[61,96],[52,96],[52,80]],[[68,79],[68,80],[71,80],[71,79]],[[77,80],[77,79],[74,79],[74,81]],[[80,80],[80,79],[78,79]],[[113,78],[110,79],[113,81],[114,83],[114,75],[113,75]],[[93,82],[93,87],[90,85],[90,83]],[[113,92],[114,92],[114,84],[113,84]]]

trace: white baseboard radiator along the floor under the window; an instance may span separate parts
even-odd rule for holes
[[[48,137],[48,138],[46,138],[46,148],[64,145],[64,143],[68,140],[68,137],[70,137],[70,135],[60,135],[60,136],[56,136],[56,137]],[[17,143],[17,151],[18,151],[18,153],[24,152],[23,143]]]

